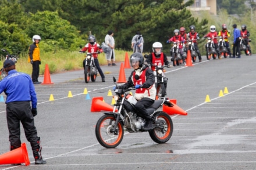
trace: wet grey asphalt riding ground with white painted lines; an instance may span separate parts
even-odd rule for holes
[[[30,166],[0,165],[0,169],[255,169],[256,55],[216,59],[166,68],[168,97],[188,115],[171,115],[172,138],[153,142],[147,132],[127,133],[115,149],[95,138],[102,112],[91,110],[91,99],[102,96],[111,104],[112,77],[124,79],[118,66],[101,66],[106,82],[84,82],[83,70],[51,74],[53,84],[35,85],[45,165],[34,165],[23,129]],[[169,58],[170,60],[170,58]],[[125,79],[131,68],[125,68]],[[44,81],[44,77],[39,78]],[[221,94],[221,91],[228,91]],[[87,91],[87,95],[84,91]],[[2,93],[4,100],[6,96]],[[50,96],[54,98],[50,100]],[[209,96],[210,102],[205,102]],[[0,154],[9,151],[5,103],[0,102]],[[1,164],[1,155],[0,155]]]

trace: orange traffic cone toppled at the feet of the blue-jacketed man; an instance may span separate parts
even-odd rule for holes
[[[8,153],[0,155],[0,164],[22,164],[26,166],[30,165],[29,155],[27,154],[26,143],[22,143],[22,146],[9,151]]]

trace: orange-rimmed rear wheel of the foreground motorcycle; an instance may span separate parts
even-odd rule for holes
[[[166,143],[172,137],[173,132],[173,123],[170,116],[163,112],[158,111],[155,113],[155,117],[157,117],[156,123],[159,125],[156,128],[149,131],[150,137],[154,142],[157,143]],[[153,124],[154,125],[154,124]]]

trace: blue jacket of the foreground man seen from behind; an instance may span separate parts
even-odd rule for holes
[[[37,108],[37,94],[29,75],[10,70],[8,76],[0,81],[0,93],[5,92],[6,102],[31,101],[32,108]]]

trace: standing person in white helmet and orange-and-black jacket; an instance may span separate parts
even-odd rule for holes
[[[41,84],[41,82],[38,82],[39,77],[39,71],[41,64],[40,59],[40,49],[39,49],[39,42],[41,40],[41,37],[39,35],[34,35],[32,38],[33,44],[29,46],[29,59],[28,61],[32,64],[33,70],[32,70],[32,81],[33,84]]]

